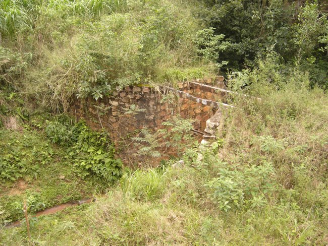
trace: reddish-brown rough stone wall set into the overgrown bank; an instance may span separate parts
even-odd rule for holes
[[[111,96],[95,101],[88,98],[75,102],[75,116],[84,119],[93,130],[104,129],[110,135],[118,150],[118,156],[126,165],[144,162],[138,157],[133,137],[140,130],[148,128],[152,132],[162,129],[162,122],[180,114],[183,118],[194,120],[194,134],[202,140],[208,120],[217,110],[223,98],[215,90],[200,88],[204,81],[179,84],[181,90],[170,87],[152,88],[149,86],[127,86],[118,89]],[[158,150],[161,158],[152,158],[157,165],[161,159],[176,154],[175,149],[162,147]]]

